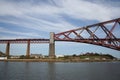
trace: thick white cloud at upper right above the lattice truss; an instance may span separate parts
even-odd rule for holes
[[[95,4],[85,0],[65,0],[64,11],[75,19],[104,21],[119,17],[120,7]],[[114,15],[114,14],[117,15]]]

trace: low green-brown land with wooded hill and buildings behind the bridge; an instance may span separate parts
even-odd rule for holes
[[[0,51],[0,57],[5,57],[6,55]],[[26,55],[21,55],[21,56],[10,56],[11,60],[22,60],[22,61],[62,61],[62,62],[81,62],[81,61],[112,61],[112,60],[117,60],[117,58],[113,57],[110,54],[102,54],[102,53],[84,53],[84,54],[73,54],[73,55],[65,55],[62,57],[56,57],[56,58],[49,58],[49,56],[30,56],[27,57]]]

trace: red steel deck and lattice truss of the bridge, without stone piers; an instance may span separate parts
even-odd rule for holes
[[[111,25],[111,23],[113,25]],[[120,28],[120,18],[57,33],[54,35],[54,39],[55,41],[94,44],[120,51],[120,38],[113,34],[117,24]],[[106,25],[111,26],[111,28],[108,29],[109,26]],[[99,34],[96,33],[97,31],[99,32],[100,29],[102,32],[99,34],[105,34],[102,37],[98,36]],[[0,40],[0,43],[27,43],[28,41],[30,41],[30,43],[49,43],[49,39],[10,39]]]

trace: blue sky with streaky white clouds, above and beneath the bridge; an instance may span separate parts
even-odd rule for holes
[[[0,0],[0,39],[49,38],[63,32],[120,17],[119,0]],[[119,33],[119,31],[117,31]],[[6,44],[0,44],[5,52]],[[48,44],[31,44],[31,53],[48,54]],[[26,44],[11,44],[10,53],[26,53]],[[56,42],[56,54],[98,52],[120,58],[105,47]]]

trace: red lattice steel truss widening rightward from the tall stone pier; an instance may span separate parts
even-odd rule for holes
[[[120,18],[57,33],[55,41],[94,44],[120,51]]]

